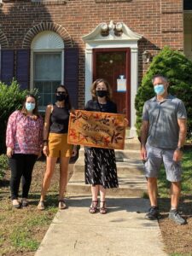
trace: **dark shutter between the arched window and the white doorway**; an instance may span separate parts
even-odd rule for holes
[[[79,98],[79,50],[76,48],[65,49],[64,84],[67,87],[73,108],[78,108]]]

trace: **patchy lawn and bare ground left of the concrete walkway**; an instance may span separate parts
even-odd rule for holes
[[[29,207],[15,209],[9,199],[10,172],[5,173],[0,188],[0,256],[1,255],[31,255],[38,246],[46,230],[49,228],[55,213],[58,211],[59,165],[46,196],[45,211],[37,209],[40,190],[46,167],[45,161],[37,161],[32,174],[32,185],[29,195]]]

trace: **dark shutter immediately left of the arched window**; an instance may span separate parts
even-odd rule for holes
[[[16,53],[16,79],[20,88],[29,89],[30,49],[18,49]]]

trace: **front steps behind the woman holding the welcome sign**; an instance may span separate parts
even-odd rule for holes
[[[137,138],[125,138],[125,149],[114,150],[119,178],[118,189],[108,189],[110,196],[143,197],[147,193],[143,176],[143,162],[140,159],[140,143]],[[67,184],[70,194],[90,195],[90,185],[84,184],[84,147],[79,150],[79,159],[73,166],[73,176]]]

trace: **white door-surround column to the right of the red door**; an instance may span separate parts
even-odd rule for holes
[[[131,131],[130,137],[137,137],[135,98],[138,88],[138,49],[131,48]]]

